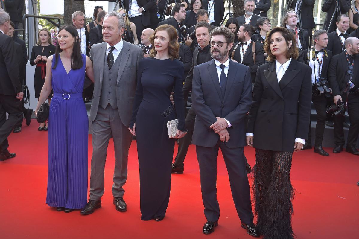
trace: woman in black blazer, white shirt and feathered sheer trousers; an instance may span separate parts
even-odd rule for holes
[[[293,151],[300,150],[308,136],[312,71],[295,60],[295,37],[286,28],[272,29],[264,49],[269,62],[257,70],[247,129],[247,144],[256,148],[257,228],[266,239],[292,239],[294,191],[289,174]]]

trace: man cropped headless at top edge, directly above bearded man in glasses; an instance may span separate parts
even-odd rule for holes
[[[202,0],[202,8],[208,12],[209,23],[219,27],[224,16],[223,0]]]

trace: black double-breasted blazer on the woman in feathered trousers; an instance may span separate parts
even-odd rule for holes
[[[255,148],[293,152],[295,138],[307,139],[311,75],[311,67],[293,58],[279,83],[275,61],[258,67],[247,128]]]

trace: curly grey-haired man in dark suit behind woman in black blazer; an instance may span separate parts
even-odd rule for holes
[[[309,44],[307,43],[307,32],[300,27],[297,27],[298,15],[295,13],[294,9],[289,8],[285,11],[283,18],[281,20],[282,27],[288,29],[293,29],[295,31],[295,39],[297,40],[297,47],[300,50],[308,49]]]

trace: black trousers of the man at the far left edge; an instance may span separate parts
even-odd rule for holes
[[[6,113],[9,114],[7,120]],[[0,150],[2,152],[9,147],[7,138],[20,119],[22,119],[20,101],[15,95],[0,94]]]

